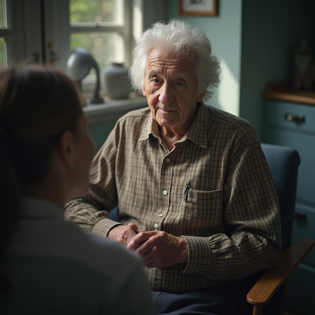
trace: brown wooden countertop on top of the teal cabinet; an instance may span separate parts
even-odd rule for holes
[[[315,105],[315,90],[297,91],[289,88],[287,82],[271,82],[267,84],[261,96],[274,100]]]

